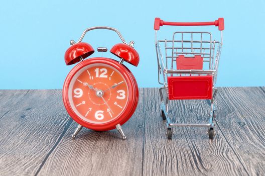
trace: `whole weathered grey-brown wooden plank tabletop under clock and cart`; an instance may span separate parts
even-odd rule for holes
[[[116,130],[83,128],[61,90],[0,90],[0,175],[264,175],[265,88],[224,87],[216,97],[216,136],[174,128],[167,140],[157,88],[140,89],[132,118]],[[178,122],[204,123],[205,100],[172,101]]]

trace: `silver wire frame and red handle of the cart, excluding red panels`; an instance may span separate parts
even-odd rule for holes
[[[212,34],[210,32],[174,32],[172,40],[157,40],[157,33],[160,29],[160,26],[170,25],[170,26],[209,26],[214,25],[218,26],[220,31],[221,40],[215,41],[212,40]],[[194,126],[194,127],[207,127],[208,135],[210,139],[213,139],[215,135],[214,130],[214,120],[215,120],[215,96],[217,93],[217,88],[215,87],[218,64],[220,59],[220,53],[222,48],[223,35],[222,31],[224,30],[224,20],[219,18],[214,22],[196,22],[196,23],[180,23],[180,22],[164,22],[160,18],[155,19],[155,46],[157,53],[157,62],[158,62],[158,82],[163,86],[159,89],[160,98],[161,98],[161,115],[163,120],[167,122],[167,136],[168,139],[172,139],[173,128],[172,127],[184,127],[184,126]],[[176,40],[176,36],[181,35],[181,40]],[[190,35],[190,40],[184,38],[184,35]],[[200,35],[200,40],[194,39],[195,35]],[[208,36],[207,40],[203,40],[205,36]],[[162,48],[160,44],[165,45],[165,57],[162,54]],[[188,45],[188,47],[187,47]],[[208,45],[208,47],[205,47]],[[217,45],[217,46],[216,46]],[[171,54],[171,55],[170,55]],[[174,69],[174,63],[180,56],[185,58],[195,57],[196,55],[203,56],[203,64],[208,63],[209,68],[207,69]],[[171,59],[171,62],[168,60]],[[205,64],[204,64],[205,65]],[[205,67],[205,66],[204,66]],[[182,123],[172,123],[169,114],[168,114],[168,103],[169,103],[169,86],[168,78],[171,76],[212,76],[212,84],[210,90],[210,98],[195,98],[195,99],[208,99],[211,101],[210,112],[209,112],[209,121],[207,124],[182,124]],[[166,92],[166,99],[163,98],[163,91]],[[193,98],[188,98],[193,99]],[[171,100],[185,100],[185,98],[171,99]]]

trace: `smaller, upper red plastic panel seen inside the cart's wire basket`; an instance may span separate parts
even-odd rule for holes
[[[177,69],[178,70],[202,70],[203,58],[200,55],[195,55],[194,57],[185,57],[184,55],[179,55],[177,57]]]

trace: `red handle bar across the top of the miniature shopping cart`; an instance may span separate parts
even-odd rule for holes
[[[154,29],[159,30],[160,26],[169,25],[169,26],[218,26],[219,31],[224,30],[224,19],[218,18],[214,22],[164,22],[160,18],[155,18]]]

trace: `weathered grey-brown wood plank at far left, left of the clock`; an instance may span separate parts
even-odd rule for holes
[[[11,111],[0,119],[0,175],[34,175],[71,123],[62,91],[1,94],[1,108]]]

